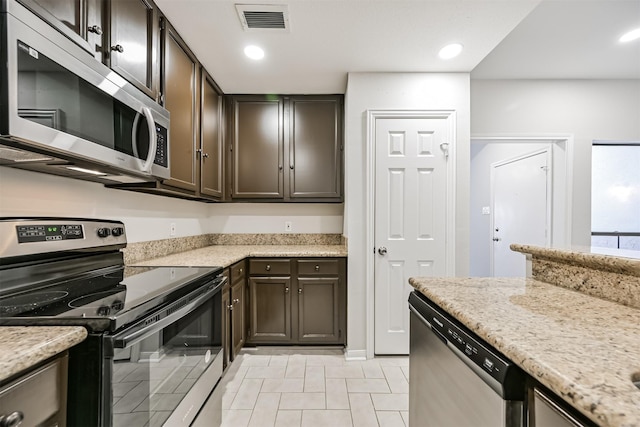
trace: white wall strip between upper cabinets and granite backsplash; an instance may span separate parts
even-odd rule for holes
[[[0,217],[67,216],[123,221],[131,243],[206,233],[341,233],[342,204],[207,204],[114,190],[102,184],[0,167]]]

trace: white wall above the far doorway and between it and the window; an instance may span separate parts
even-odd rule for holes
[[[592,141],[638,140],[639,117],[640,80],[471,81],[473,136],[573,135],[574,245],[590,245]]]

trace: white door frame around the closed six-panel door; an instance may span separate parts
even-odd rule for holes
[[[376,142],[376,121],[378,119],[434,119],[449,118],[454,116],[454,110],[367,110],[367,139],[366,139],[366,255],[365,255],[365,299],[367,305],[366,324],[366,358],[371,359],[375,355],[374,340],[374,285],[375,285],[375,142]],[[450,135],[453,140],[449,142],[449,161],[447,162],[447,222],[446,222],[446,275],[451,276],[455,272],[455,200],[456,200],[456,120],[451,121]],[[407,310],[409,309],[407,305]]]

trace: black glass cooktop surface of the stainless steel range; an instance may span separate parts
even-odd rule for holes
[[[0,286],[0,325],[83,325],[114,331],[210,282],[219,267],[123,267]],[[2,284],[0,282],[0,284]]]

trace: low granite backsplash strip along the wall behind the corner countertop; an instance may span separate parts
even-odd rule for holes
[[[212,245],[345,245],[341,234],[203,234],[130,243],[122,250],[125,264]]]

